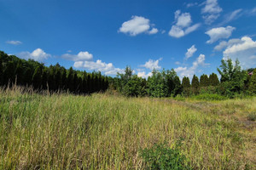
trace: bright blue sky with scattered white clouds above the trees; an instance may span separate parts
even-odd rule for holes
[[[256,67],[255,0],[0,0],[0,23],[7,54],[111,77]]]

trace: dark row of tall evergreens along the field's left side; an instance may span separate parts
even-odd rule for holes
[[[108,77],[101,72],[69,70],[56,64],[45,66],[32,59],[19,59],[0,51],[0,86],[32,86],[34,89],[69,91],[74,94],[91,94],[108,89]]]

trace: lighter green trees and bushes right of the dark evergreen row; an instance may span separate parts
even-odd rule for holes
[[[218,73],[221,78],[212,73],[200,78],[193,76],[191,82],[189,77],[183,77],[180,81],[176,71],[173,69],[163,71],[152,71],[148,80],[132,74],[131,67],[125,68],[124,74],[117,77],[109,77],[110,88],[125,96],[152,96],[152,97],[175,97],[177,95],[189,97],[197,94],[220,94],[229,98],[237,95],[256,94],[256,69],[241,70],[238,60],[233,65],[231,59],[221,60]],[[254,74],[253,74],[254,73]]]

